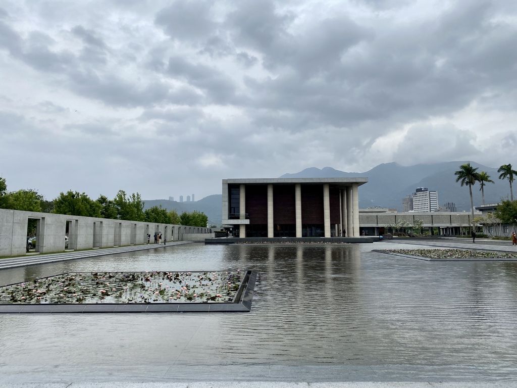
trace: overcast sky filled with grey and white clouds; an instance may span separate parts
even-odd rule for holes
[[[515,0],[0,3],[0,176],[48,199],[517,165],[516,108]]]

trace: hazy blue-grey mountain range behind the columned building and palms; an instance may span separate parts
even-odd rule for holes
[[[324,167],[307,168],[294,174],[284,174],[281,178],[318,178],[318,177],[367,177],[368,183],[359,186],[359,207],[388,207],[402,210],[402,199],[415,191],[417,187],[427,187],[438,192],[438,203],[454,202],[459,212],[469,211],[470,197],[468,187],[456,182],[455,171],[465,161],[440,162],[429,165],[401,166],[398,163],[383,163],[365,172],[345,172]],[[494,181],[487,183],[484,188],[485,203],[496,203],[510,196],[508,180],[499,180],[497,168],[470,162],[478,168],[478,172],[485,171]],[[473,187],[474,206],[481,204],[479,184]],[[222,219],[222,196],[214,194],[195,202],[176,202],[165,199],[146,200],[144,209],[152,206],[162,206],[167,210],[192,212],[194,210],[205,213],[208,222],[220,225]]]

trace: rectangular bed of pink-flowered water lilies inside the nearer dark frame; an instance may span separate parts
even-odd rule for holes
[[[227,303],[245,271],[73,272],[0,287],[0,304]]]

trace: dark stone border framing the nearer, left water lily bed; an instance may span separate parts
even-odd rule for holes
[[[192,272],[192,271],[191,271]],[[198,272],[198,271],[196,271]],[[200,272],[200,271],[199,271]],[[0,314],[68,312],[249,312],[253,302],[256,271],[247,271],[234,302],[217,303],[82,303],[0,304]]]

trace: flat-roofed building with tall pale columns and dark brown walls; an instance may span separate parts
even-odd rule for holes
[[[239,237],[359,236],[368,178],[225,179],[222,223]]]

